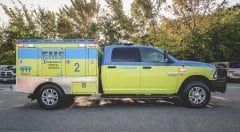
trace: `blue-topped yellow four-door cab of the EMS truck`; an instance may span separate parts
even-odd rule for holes
[[[172,94],[177,90],[179,67],[160,49],[112,45],[105,47],[103,58],[104,94]]]

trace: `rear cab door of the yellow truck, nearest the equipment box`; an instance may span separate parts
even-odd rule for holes
[[[140,51],[134,47],[113,48],[110,63],[104,66],[105,94],[138,94],[140,89]]]

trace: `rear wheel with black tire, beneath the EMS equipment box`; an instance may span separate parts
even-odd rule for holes
[[[55,110],[60,108],[63,96],[61,88],[54,84],[45,84],[37,93],[37,102],[44,109]]]

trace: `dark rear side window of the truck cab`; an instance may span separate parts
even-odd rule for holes
[[[141,62],[139,48],[114,48],[112,62]]]

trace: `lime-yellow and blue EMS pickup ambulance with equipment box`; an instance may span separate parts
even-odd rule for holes
[[[201,108],[211,92],[226,91],[212,64],[177,60],[153,46],[100,47],[94,39],[19,40],[16,70],[16,91],[50,110],[60,108],[66,95],[176,97]]]

